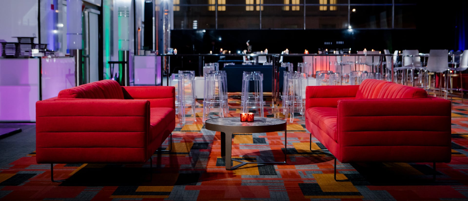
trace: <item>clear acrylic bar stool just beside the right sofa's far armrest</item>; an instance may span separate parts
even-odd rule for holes
[[[285,84],[283,85],[283,114],[285,120],[288,115],[290,122],[294,120],[294,112],[298,111],[304,118],[306,86],[308,86],[307,73],[285,72]]]

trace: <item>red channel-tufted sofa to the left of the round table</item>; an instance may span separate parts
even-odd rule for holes
[[[36,103],[37,163],[145,163],[175,129],[173,86],[101,80]]]

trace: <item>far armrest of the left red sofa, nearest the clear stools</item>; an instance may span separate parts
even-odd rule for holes
[[[125,99],[148,100],[151,108],[176,108],[174,86],[122,86]]]

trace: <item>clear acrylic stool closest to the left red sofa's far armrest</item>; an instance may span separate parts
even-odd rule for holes
[[[195,112],[196,96],[194,93],[194,71],[179,71],[177,74],[171,75],[170,86],[177,86],[176,90],[176,114],[179,115],[179,120],[185,123],[185,108],[190,107],[194,121],[197,121]]]

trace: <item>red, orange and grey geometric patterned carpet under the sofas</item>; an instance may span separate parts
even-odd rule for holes
[[[351,181],[336,182],[333,157],[328,151],[309,151],[309,133],[300,116],[287,126],[287,164],[250,164],[227,171],[220,157],[220,134],[204,129],[202,109],[197,108],[198,121],[186,115],[188,122],[173,132],[172,152],[155,152],[152,174],[149,162],[56,164],[55,179],[69,179],[52,183],[50,165],[36,164],[32,152],[0,167],[0,200],[468,200],[466,104],[453,102],[452,162],[437,164],[436,181],[431,180],[429,163],[338,162],[337,179]],[[232,99],[230,105],[229,115],[238,116],[239,102]],[[237,134],[233,158],[280,161],[283,142],[284,132]],[[312,142],[313,149],[324,148],[315,138]]]

